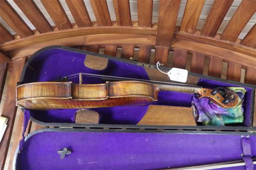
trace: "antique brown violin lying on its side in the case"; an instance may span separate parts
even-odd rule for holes
[[[83,75],[102,77],[102,75]],[[207,97],[224,108],[236,107],[238,104],[238,95],[228,89],[224,89],[225,93],[222,95],[219,90],[223,88],[208,89],[194,85],[103,76],[106,77],[113,81],[82,84],[82,74],[79,74],[79,84],[67,80],[67,82],[61,80],[21,84],[16,88],[16,105],[28,109],[142,106],[157,101],[161,90],[195,93],[199,98]]]

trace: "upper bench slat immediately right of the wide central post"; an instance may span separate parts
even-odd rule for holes
[[[188,0],[182,17],[180,31],[194,33],[204,0]]]

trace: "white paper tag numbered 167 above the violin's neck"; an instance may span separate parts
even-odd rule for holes
[[[168,74],[170,80],[172,80],[172,81],[187,82],[188,70],[186,70],[186,69],[172,68],[168,71],[167,74]]]

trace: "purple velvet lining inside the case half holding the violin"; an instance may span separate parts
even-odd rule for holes
[[[48,49],[40,52],[29,63],[29,67],[24,75],[22,83],[54,81],[62,76],[73,75],[76,73],[91,73],[109,76],[121,76],[136,79],[148,80],[148,75],[142,66],[130,63],[123,63],[115,60],[108,60],[108,67],[103,70],[94,70],[84,65],[85,54],[63,50]],[[72,79],[78,83],[78,78]],[[99,78],[83,77],[83,83],[101,83]],[[199,85],[202,87],[216,87],[217,84],[228,86],[227,83],[209,81],[201,79]],[[232,85],[234,86],[234,85]],[[250,95],[251,89],[246,88],[246,108],[245,122],[243,126],[249,126],[250,118]],[[178,97],[177,97],[178,96]],[[191,107],[192,94],[161,91],[159,100],[154,102],[155,105],[170,105]],[[100,123],[104,124],[137,124],[147,111],[148,106],[141,107],[108,107],[95,109],[101,115]],[[72,123],[74,114],[78,109],[63,110],[29,110],[30,115],[36,120],[51,123]]]

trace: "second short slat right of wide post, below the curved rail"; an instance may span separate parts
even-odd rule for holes
[[[201,53],[193,52],[192,53],[192,61],[191,61],[191,69],[190,71],[197,74],[203,73],[204,67],[204,55]]]

